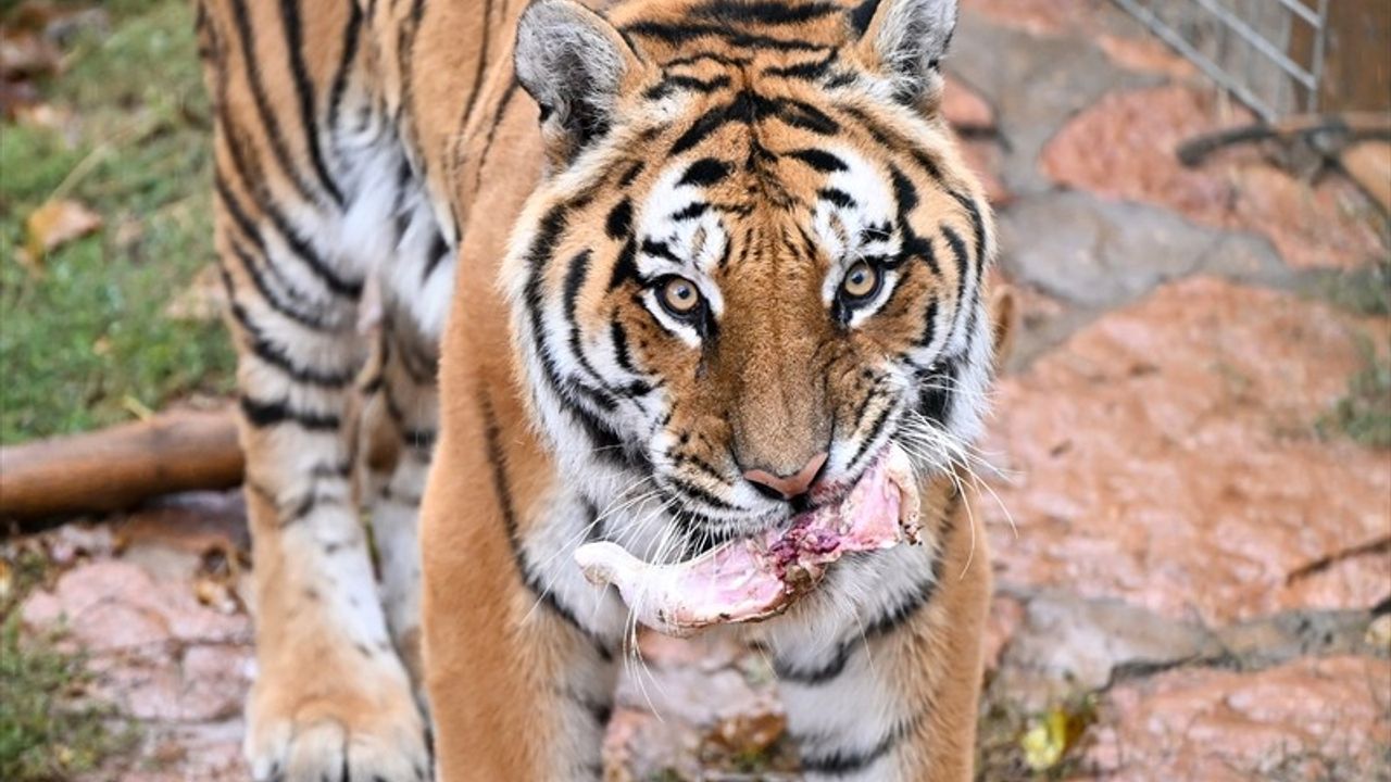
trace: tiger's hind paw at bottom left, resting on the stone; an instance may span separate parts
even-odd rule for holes
[[[356,673],[363,676],[364,672]],[[317,678],[316,678],[317,679]],[[385,676],[384,679],[398,679]],[[356,682],[363,682],[360,678]],[[428,782],[426,725],[405,676],[324,682],[263,678],[248,704],[256,782]],[[294,693],[298,692],[299,697]]]

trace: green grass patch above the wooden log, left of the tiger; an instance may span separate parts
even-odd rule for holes
[[[164,308],[213,259],[209,106],[186,0],[102,6],[107,32],[70,45],[40,85],[71,128],[0,128],[0,442],[131,417],[192,392],[225,392],[234,358],[218,323]],[[104,227],[33,273],[24,221],[47,199]]]

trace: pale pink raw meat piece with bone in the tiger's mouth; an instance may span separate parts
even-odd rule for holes
[[[654,565],[616,543],[588,543],[574,559],[590,583],[618,587],[634,618],[669,636],[776,616],[811,591],[840,557],[918,543],[918,491],[897,445],[835,502],[778,530],[730,540],[700,557]]]

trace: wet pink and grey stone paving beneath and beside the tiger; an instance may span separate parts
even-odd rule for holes
[[[1384,223],[1251,149],[1181,167],[1177,142],[1248,117],[1109,3],[965,6],[947,110],[1024,303],[974,504],[982,775],[1391,779],[1391,449],[1328,417],[1391,351],[1391,320],[1330,292],[1387,263]],[[67,570],[25,622],[65,616],[96,694],[147,726],[113,774],[246,778],[241,512],[193,495],[45,536]],[[613,779],[794,778],[757,658],[645,651]]]

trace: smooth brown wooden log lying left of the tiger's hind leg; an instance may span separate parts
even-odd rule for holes
[[[241,480],[231,410],[166,413],[0,448],[0,519],[122,511],[159,494]]]

